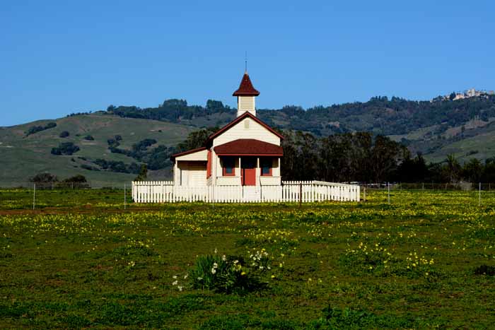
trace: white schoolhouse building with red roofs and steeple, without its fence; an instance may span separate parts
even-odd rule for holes
[[[237,117],[209,136],[206,146],[172,155],[175,186],[281,185],[281,134],[256,117],[260,95],[246,71],[233,96]]]

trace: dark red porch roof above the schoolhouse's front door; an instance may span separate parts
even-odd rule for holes
[[[214,151],[217,155],[284,155],[281,146],[255,139],[238,139],[223,143],[216,146]]]

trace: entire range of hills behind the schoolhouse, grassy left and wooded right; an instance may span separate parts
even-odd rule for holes
[[[368,102],[308,110],[287,106],[279,110],[258,110],[257,113],[270,126],[305,131],[315,136],[353,131],[382,134],[403,143],[413,155],[423,153],[426,160],[433,163],[442,162],[449,154],[455,154],[461,162],[495,157],[493,95],[435,102],[377,97]],[[135,151],[136,143],[144,139],[156,140],[151,146],[144,146],[145,152],[158,150],[157,146],[174,147],[191,131],[223,126],[234,117],[235,110],[219,101],[208,100],[202,107],[173,99],[165,100],[156,108],[110,106],[107,111],[93,114],[0,127],[0,187],[22,184],[40,172],[51,172],[59,179],[82,174],[93,186],[122,184],[136,177],[136,168],[149,159],[131,157],[127,153]],[[57,126],[26,134],[33,126],[42,129],[49,123]],[[69,136],[59,137],[62,131],[68,131]],[[117,135],[122,140],[116,148],[124,153],[110,152],[107,140],[115,139]],[[80,150],[74,155],[52,155],[52,148],[64,142],[74,143]],[[148,177],[170,179],[167,160],[171,151],[168,149],[158,155],[161,163],[157,168],[160,170],[149,171]],[[120,162],[117,164],[120,169],[110,167],[109,170],[97,160]],[[134,172],[125,173],[122,167],[127,172]]]

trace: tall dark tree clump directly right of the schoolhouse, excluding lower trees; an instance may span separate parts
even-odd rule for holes
[[[408,151],[400,143],[370,133],[335,134],[322,139],[284,132],[281,160],[286,180],[381,182],[390,179]]]

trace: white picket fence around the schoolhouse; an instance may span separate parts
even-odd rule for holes
[[[360,194],[358,185],[322,181],[284,181],[281,186],[206,187],[175,186],[172,181],[132,182],[132,199],[136,203],[359,201]]]

